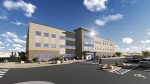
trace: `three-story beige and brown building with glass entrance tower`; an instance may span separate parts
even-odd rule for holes
[[[49,59],[59,56],[67,58],[113,55],[113,41],[91,35],[91,30],[79,27],[68,32],[41,24],[29,23],[26,52],[34,57]]]

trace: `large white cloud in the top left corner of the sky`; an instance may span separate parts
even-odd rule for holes
[[[36,6],[31,3],[26,3],[23,0],[12,1],[5,0],[3,6],[8,10],[22,10],[25,12],[25,16],[31,18],[32,14],[35,12]]]

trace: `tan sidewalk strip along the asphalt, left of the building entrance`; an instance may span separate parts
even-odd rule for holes
[[[33,68],[33,67],[43,67],[43,66],[54,66],[54,65],[63,65],[63,64],[71,64],[74,62],[79,62],[81,60],[69,60],[63,61],[61,64],[52,64],[51,62],[41,62],[38,63],[16,63],[16,62],[8,62],[8,63],[0,63],[0,68]]]

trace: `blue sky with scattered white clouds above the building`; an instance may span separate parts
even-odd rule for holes
[[[73,32],[82,26],[115,51],[150,50],[150,0],[0,0],[0,52],[25,51],[29,22]]]

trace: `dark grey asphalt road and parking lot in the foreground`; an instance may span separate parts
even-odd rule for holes
[[[103,60],[103,62],[110,60]],[[113,62],[113,61],[111,61]],[[54,84],[149,84],[149,72],[131,70],[123,75],[98,70],[101,65],[72,63],[37,68],[10,69],[0,78],[0,84],[27,81],[47,81]],[[147,78],[137,77],[136,74]]]

